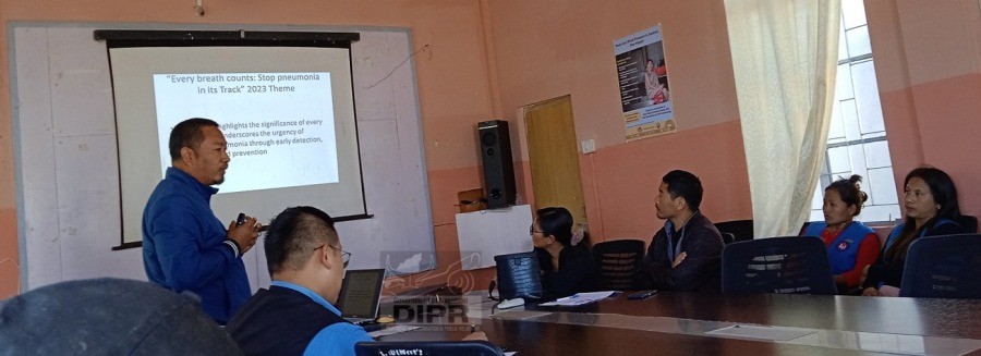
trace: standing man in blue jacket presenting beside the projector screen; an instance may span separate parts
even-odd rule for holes
[[[225,324],[252,294],[242,255],[258,237],[255,218],[228,229],[211,211],[211,185],[230,161],[225,135],[208,119],[187,119],[170,132],[171,168],[143,210],[143,266],[154,284],[201,296],[204,311]]]

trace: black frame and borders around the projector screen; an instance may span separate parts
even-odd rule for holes
[[[112,48],[133,47],[317,47],[317,48],[343,48],[348,49],[350,57],[351,44],[361,39],[359,33],[328,33],[328,32],[261,32],[261,30],[130,30],[130,29],[96,29],[93,37],[97,41],[106,42],[107,52]],[[349,70],[353,73],[353,60]],[[110,64],[111,65],[111,64]],[[111,82],[111,75],[110,75]],[[353,85],[353,76],[352,83]],[[116,112],[116,94],[113,90],[113,121],[118,123]],[[356,107],[356,98],[351,97],[352,108]],[[356,154],[361,156],[361,137],[358,132],[356,109],[354,109],[354,142]],[[117,127],[117,132],[118,132]],[[117,150],[119,150],[117,139]],[[119,157],[117,157],[119,159]],[[359,176],[361,177],[361,196],[364,213],[332,217],[336,222],[372,219],[374,214],[367,213],[367,199],[364,192],[363,163],[358,160]],[[121,175],[121,173],[120,173]],[[120,176],[120,181],[122,177]],[[120,183],[122,185],[122,183]],[[120,186],[122,189],[122,186]],[[122,200],[122,198],[121,198]],[[123,204],[120,201],[120,207]],[[124,214],[120,214],[120,244],[112,250],[138,248],[142,242],[125,241]],[[265,230],[265,226],[264,229]]]

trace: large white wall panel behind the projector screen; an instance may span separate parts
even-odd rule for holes
[[[146,280],[142,249],[111,250],[122,230],[116,122],[108,53],[93,30],[229,27],[12,23],[10,28],[22,291],[97,277]],[[354,97],[365,198],[375,218],[341,222],[338,232],[353,254],[351,268],[382,267],[386,251],[432,256],[419,98],[413,61],[405,61],[408,30],[234,28],[361,33],[352,46]],[[253,289],[269,283],[259,246],[244,257]],[[433,263],[424,258],[398,272]]]

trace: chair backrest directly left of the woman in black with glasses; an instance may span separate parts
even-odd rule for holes
[[[502,299],[545,296],[542,287],[542,268],[534,251],[494,256],[497,263],[497,287]]]

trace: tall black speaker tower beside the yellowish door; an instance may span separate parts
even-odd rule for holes
[[[499,209],[514,205],[518,196],[514,184],[514,161],[511,158],[511,136],[508,122],[492,120],[477,123],[481,160],[484,162],[484,195],[487,208]]]

